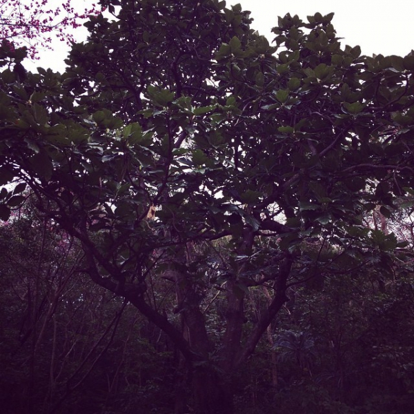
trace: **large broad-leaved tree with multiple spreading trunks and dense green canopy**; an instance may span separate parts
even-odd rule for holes
[[[1,184],[26,183],[82,270],[170,337],[195,411],[231,413],[290,286],[399,247],[362,217],[413,191],[414,56],[342,48],[333,14],[279,18],[270,46],[224,1],[114,5],[63,75],[18,76],[23,55],[1,50]],[[3,188],[3,219],[21,191]]]

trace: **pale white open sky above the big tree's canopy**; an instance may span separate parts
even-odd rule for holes
[[[62,0],[50,0],[49,3],[61,3]],[[90,1],[83,0],[82,5]],[[359,45],[364,55],[401,55],[405,56],[414,49],[414,1],[413,0],[231,0],[227,4],[241,3],[244,10],[250,10],[253,28],[273,39],[271,28],[277,26],[277,16],[286,13],[298,14],[306,21],[306,16],[320,12],[335,12],[333,26],[338,37],[344,37],[344,44]],[[86,30],[77,29],[77,39],[86,37]],[[41,53],[41,60],[29,64],[26,68],[35,70],[37,66],[50,67],[63,71],[68,48],[57,43],[53,52]]]

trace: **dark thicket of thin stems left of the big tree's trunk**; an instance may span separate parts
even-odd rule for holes
[[[81,272],[74,239],[29,204],[0,227],[0,247],[4,413],[171,406],[166,338]]]

